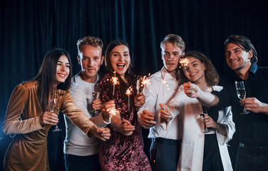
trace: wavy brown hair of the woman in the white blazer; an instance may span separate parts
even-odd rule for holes
[[[205,81],[207,86],[216,86],[219,83],[219,75],[217,74],[215,66],[211,63],[210,59],[207,58],[203,53],[198,51],[187,51],[183,58],[193,57],[205,64]],[[189,80],[185,76],[184,68],[180,67],[180,84],[187,83]]]

